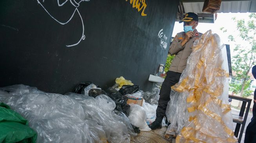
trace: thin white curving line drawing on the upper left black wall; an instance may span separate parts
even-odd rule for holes
[[[69,18],[68,21],[66,21],[66,22],[60,22],[60,21],[58,21],[56,18],[54,18],[53,16],[51,16],[51,14],[47,11],[47,9],[45,9],[45,7],[41,4],[41,2],[39,2],[39,0],[37,0],[38,4],[40,4],[40,5],[44,8],[44,10],[49,14],[49,16],[51,16],[51,18],[53,18],[55,21],[57,21],[58,23],[60,23],[60,24],[62,24],[62,25],[65,25],[65,24],[69,23],[69,21],[73,18],[74,14],[75,14],[76,12],[78,13],[78,15],[79,15],[80,18],[81,18],[82,25],[83,25],[82,36],[81,36],[80,40],[79,40],[77,43],[72,44],[72,45],[66,45],[67,47],[70,47],[70,46],[78,45],[82,39],[83,39],[83,40],[85,39],[85,35],[84,35],[84,21],[83,21],[83,18],[82,18],[82,16],[81,16],[81,14],[79,13],[77,7],[79,7],[80,2],[83,2],[83,1],[87,1],[87,2],[88,2],[88,1],[90,1],[90,0],[80,0],[80,1],[79,1],[79,0],[65,0],[65,1],[64,1],[63,3],[61,3],[61,4],[60,4],[59,0],[57,0],[58,6],[63,6],[67,1],[69,1],[69,2],[70,2],[74,7],[76,7],[76,8],[74,9],[73,14],[72,14],[72,16]],[[79,1],[79,2],[76,2],[76,1]],[[43,2],[44,2],[44,0],[43,0]]]

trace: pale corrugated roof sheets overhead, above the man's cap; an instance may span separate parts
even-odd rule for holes
[[[190,0],[191,1],[191,0]],[[203,2],[183,1],[185,13],[203,13]],[[222,1],[217,13],[256,13],[256,0]]]

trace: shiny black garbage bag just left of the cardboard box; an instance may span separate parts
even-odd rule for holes
[[[130,113],[130,105],[127,104],[128,98],[123,96],[120,92],[118,92],[114,88],[107,89],[107,96],[109,96],[112,100],[114,100],[116,104],[116,109],[118,111],[123,112],[126,116],[129,116]]]

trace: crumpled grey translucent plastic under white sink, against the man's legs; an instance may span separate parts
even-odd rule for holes
[[[149,103],[149,104],[156,104],[158,105],[160,89],[159,88],[153,88],[152,92],[143,92],[142,91],[142,97],[143,99]]]

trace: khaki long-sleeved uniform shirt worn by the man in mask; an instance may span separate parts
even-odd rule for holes
[[[187,58],[192,52],[192,46],[196,39],[200,38],[202,33],[199,33],[196,29],[194,30],[194,37],[191,38],[185,45],[181,45],[182,40],[185,39],[185,32],[178,33],[172,41],[169,47],[169,53],[175,55],[172,60],[170,71],[182,73],[186,68]]]

